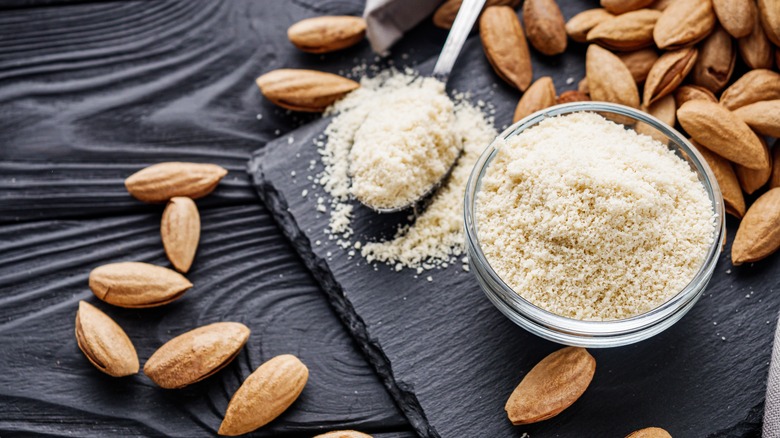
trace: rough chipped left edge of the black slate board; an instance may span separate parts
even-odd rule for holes
[[[409,420],[412,428],[420,436],[438,437],[439,434],[435,428],[428,423],[417,396],[407,385],[395,380],[390,361],[382,351],[379,343],[368,335],[363,319],[355,312],[352,303],[346,298],[341,284],[336,281],[327,268],[325,261],[315,255],[311,242],[297,226],[292,214],[289,213],[287,200],[272,184],[265,180],[265,173],[263,172],[264,155],[265,149],[257,150],[252,154],[252,158],[247,163],[247,172],[252,178],[258,196],[271,212],[271,216],[279,228],[281,228],[282,233],[298,252],[306,268],[322,287],[328,302],[333,306],[333,309],[339,315],[349,333],[355,338],[368,361],[374,366],[382,383]]]

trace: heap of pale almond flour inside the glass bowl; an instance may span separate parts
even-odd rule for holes
[[[673,297],[715,227],[687,163],[593,113],[507,140],[482,180],[476,218],[488,262],[513,290],[582,320],[635,316]]]

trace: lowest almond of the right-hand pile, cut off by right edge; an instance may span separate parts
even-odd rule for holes
[[[750,206],[731,244],[736,265],[761,260],[780,248],[780,187],[770,189]]]

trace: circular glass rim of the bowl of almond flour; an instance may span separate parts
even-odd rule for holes
[[[498,152],[499,143],[503,143],[506,139],[518,135],[532,126],[536,126],[542,120],[575,112],[612,113],[627,116],[634,121],[646,123],[657,129],[677,146],[676,150],[681,150],[682,153],[687,155],[688,160],[686,161],[695,168],[695,172],[711,201],[715,220],[713,241],[696,274],[682,290],[660,306],[629,318],[586,321],[568,318],[542,309],[523,298],[501,279],[487,261],[479,243],[477,221],[474,216],[476,195],[478,193],[478,185],[488,165]],[[671,146],[668,147],[673,149]],[[533,322],[543,326],[554,327],[556,330],[561,330],[574,336],[610,337],[636,332],[662,322],[676,314],[680,308],[684,307],[691,300],[697,299],[709,282],[720,256],[721,242],[725,235],[724,215],[723,197],[712,169],[707,165],[704,157],[682,134],[661,120],[642,111],[625,105],[607,102],[573,102],[556,105],[537,111],[512,124],[496,136],[482,152],[469,175],[464,195],[464,228],[467,245],[472,250],[472,257],[470,257],[469,262],[479,263],[483,268],[481,271],[484,271],[492,283],[498,286],[497,290],[491,290],[490,292],[498,293],[500,295],[499,298],[522,317],[531,319]],[[476,260],[471,260],[473,257],[476,257]],[[481,275],[481,273],[477,274],[475,272],[475,275]],[[488,291],[486,290],[485,292]]]

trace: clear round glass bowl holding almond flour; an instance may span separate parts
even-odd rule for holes
[[[485,170],[500,147],[501,141],[499,140],[518,135],[546,118],[580,111],[595,112],[610,120],[619,120],[626,129],[639,129],[642,133],[651,135],[665,143],[677,156],[688,162],[691,169],[698,175],[699,181],[712,202],[712,210],[716,216],[713,243],[691,282],[659,307],[631,318],[612,321],[582,321],[556,315],[537,307],[504,283],[490,266],[480,247],[477,233],[478,224],[474,214],[475,200]],[[724,207],[720,188],[712,170],[696,151],[696,148],[674,128],[655,117],[627,106],[605,102],[575,102],[557,105],[534,113],[504,130],[485,149],[474,165],[466,186],[464,207],[464,228],[471,271],[477,277],[482,290],[493,305],[515,324],[531,333],[560,344],[579,347],[617,347],[632,344],[654,336],[680,320],[696,304],[710,281],[720,255],[721,242],[725,236]]]

